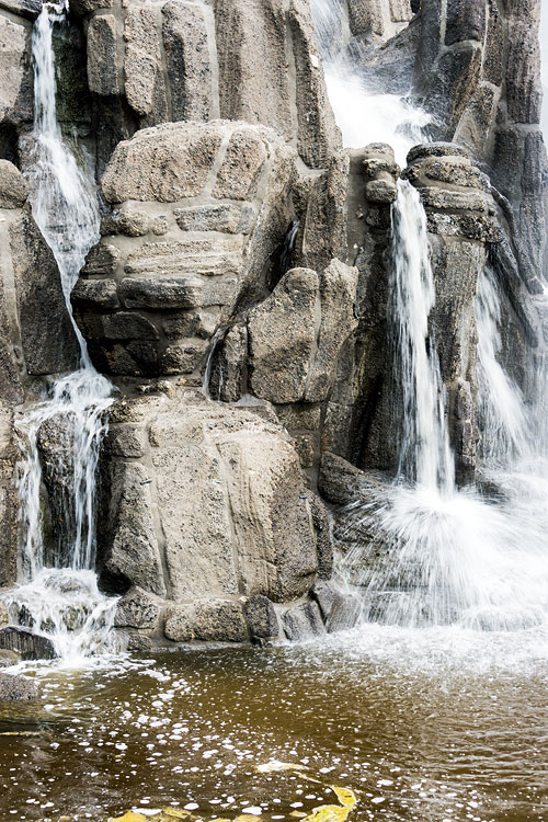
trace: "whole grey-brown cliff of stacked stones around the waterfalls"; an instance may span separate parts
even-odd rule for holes
[[[2,586],[18,567],[14,411],[42,378],[78,365],[27,202],[39,9],[0,0]],[[539,9],[345,0],[317,39],[309,0],[71,2],[56,34],[57,105],[94,155],[103,215],[71,299],[121,392],[102,455],[99,571],[121,595],[115,624],[130,648],[308,641],[359,619],[333,552],[338,507],[381,495],[398,466],[400,176],[426,212],[429,333],[457,479],[473,482],[475,301],[488,260],[503,292],[502,356],[522,384],[541,333],[525,308],[548,271]],[[367,85],[431,115],[430,141],[403,170],[391,146],[342,148],[321,60],[341,48],[358,55]],[[0,633],[26,653],[27,638]]]

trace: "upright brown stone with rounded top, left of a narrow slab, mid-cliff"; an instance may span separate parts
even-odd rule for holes
[[[316,344],[319,277],[294,269],[273,294],[249,312],[250,385],[271,402],[298,402],[307,386]]]

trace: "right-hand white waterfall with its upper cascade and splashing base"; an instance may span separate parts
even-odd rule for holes
[[[339,0],[312,0],[311,8],[344,145],[389,142],[402,162],[413,144],[424,141],[426,115],[400,96],[366,88]],[[341,570],[364,591],[367,621],[483,630],[545,626],[548,471],[532,458],[532,432],[538,426],[498,359],[493,275],[488,271],[480,282],[477,309],[482,470],[496,488],[495,499],[489,499],[455,487],[446,398],[429,328],[435,292],[425,214],[416,192],[402,181],[392,208],[390,292],[403,407],[399,471],[391,486],[353,506],[352,547]]]

